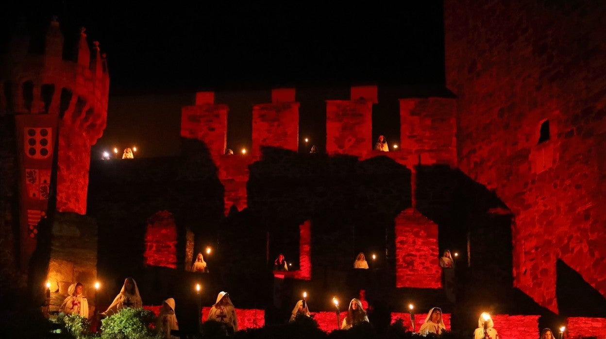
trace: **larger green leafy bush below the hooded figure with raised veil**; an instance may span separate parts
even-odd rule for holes
[[[156,315],[145,309],[121,309],[118,313],[101,320],[102,338],[151,339],[161,336],[150,327]]]

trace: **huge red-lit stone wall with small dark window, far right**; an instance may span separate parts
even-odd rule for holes
[[[444,4],[459,167],[514,213],[514,286],[558,312],[560,259],[606,295],[606,3]]]

